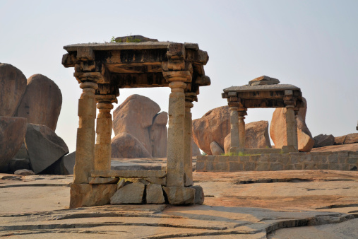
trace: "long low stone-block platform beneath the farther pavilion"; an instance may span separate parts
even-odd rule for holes
[[[251,156],[197,156],[199,172],[356,170],[358,152],[265,153]]]

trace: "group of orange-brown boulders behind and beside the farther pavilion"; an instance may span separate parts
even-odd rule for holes
[[[314,139],[306,126],[307,103],[299,109],[297,115],[297,137],[299,151],[309,152],[314,146]],[[286,108],[277,108],[273,112],[270,136],[275,148],[287,145]],[[220,155],[229,152],[230,140],[229,107],[217,107],[207,112],[201,119],[193,120],[193,139],[207,154]],[[268,134],[268,121],[251,122],[245,126],[245,148],[272,148]]]

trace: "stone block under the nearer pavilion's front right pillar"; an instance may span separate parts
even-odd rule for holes
[[[169,204],[194,204],[196,189],[193,187],[163,187]]]

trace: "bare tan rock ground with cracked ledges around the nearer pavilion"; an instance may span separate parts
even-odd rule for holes
[[[194,172],[193,176],[205,192],[201,206],[68,209],[71,176],[1,174],[0,237],[358,237],[358,172]]]

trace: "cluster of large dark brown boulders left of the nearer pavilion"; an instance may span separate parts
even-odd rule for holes
[[[11,64],[0,64],[0,172],[73,173],[73,155],[56,135],[62,95],[46,76],[26,79]]]

